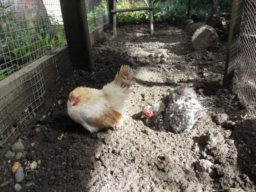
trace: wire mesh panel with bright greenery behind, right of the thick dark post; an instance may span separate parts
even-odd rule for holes
[[[109,23],[106,0],[85,0],[90,34]]]

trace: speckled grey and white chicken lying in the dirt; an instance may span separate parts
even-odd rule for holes
[[[187,132],[207,112],[210,98],[198,95],[191,86],[176,87],[169,96],[143,108],[141,118],[156,131]]]

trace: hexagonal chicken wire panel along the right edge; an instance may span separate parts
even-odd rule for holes
[[[256,117],[256,1],[244,1],[235,68],[235,86],[252,117]]]

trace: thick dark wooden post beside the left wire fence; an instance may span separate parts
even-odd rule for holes
[[[92,71],[92,47],[84,0],[60,0],[68,51],[72,65]]]

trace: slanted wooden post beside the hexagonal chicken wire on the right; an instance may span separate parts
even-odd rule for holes
[[[243,9],[244,0],[233,0],[223,86],[230,84],[234,77]]]

